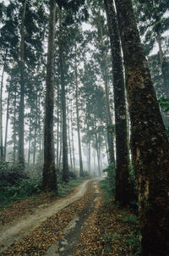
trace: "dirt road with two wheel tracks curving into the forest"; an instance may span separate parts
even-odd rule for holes
[[[80,203],[79,201],[88,193],[87,190],[89,185],[90,188],[92,188],[92,192],[90,192],[91,200],[85,202],[84,198],[84,205],[82,205],[83,202]],[[74,247],[79,242],[79,233],[83,229],[85,219],[89,217],[99,198],[99,190],[97,186],[98,180],[85,181],[79,186],[78,191],[73,196],[57,200],[54,203],[42,204],[35,209],[32,214],[24,215],[8,225],[3,225],[0,229],[1,255],[72,255],[71,252],[73,252]],[[78,205],[80,205],[79,209]],[[60,231],[58,231],[58,227],[57,230],[52,231],[53,237],[55,238],[52,238],[52,242],[48,244],[47,250],[44,248],[44,250],[39,251],[39,253],[35,253],[35,250],[32,251],[32,253],[31,251],[29,253],[25,253],[25,251],[20,253],[19,249],[17,251],[17,244],[24,243],[22,242],[24,237],[31,237],[31,234],[43,225],[43,223],[50,223],[48,220],[53,216],[53,218],[58,218],[59,214],[64,214],[63,209],[67,209],[68,207],[73,208],[73,213],[68,213],[68,220],[63,226],[59,225]],[[55,236],[56,233],[62,234],[62,236],[57,237]],[[12,248],[13,246],[15,246],[15,251]]]

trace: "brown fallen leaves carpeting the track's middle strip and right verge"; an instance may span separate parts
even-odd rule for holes
[[[64,237],[63,231],[68,223],[74,219],[74,216],[85,209],[91,200],[94,200],[95,191],[92,183],[87,186],[88,189],[83,198],[71,203],[65,209],[48,218],[25,238],[19,242],[14,242],[1,255],[39,256],[44,255],[52,244],[56,244],[59,247],[59,242]],[[134,248],[134,244],[128,242],[129,238],[131,240],[131,237],[134,237],[138,229],[134,221],[129,221],[130,219],[134,220],[135,215],[130,212],[130,209],[121,209],[113,200],[111,205],[110,203],[105,203],[101,189],[99,190],[100,195],[95,203],[95,209],[87,216],[85,224],[81,227],[79,242],[71,255],[136,255],[137,248]],[[20,203],[19,205],[22,208],[24,204]],[[11,209],[8,210],[10,211]]]

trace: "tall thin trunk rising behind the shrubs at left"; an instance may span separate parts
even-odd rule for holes
[[[27,0],[23,2],[21,29],[20,29],[20,102],[19,102],[19,151],[18,160],[25,167],[24,156],[24,115],[25,115],[25,12]]]

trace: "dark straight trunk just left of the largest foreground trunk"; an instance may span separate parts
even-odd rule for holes
[[[123,79],[123,60],[117,18],[112,0],[105,0],[107,23],[112,50],[113,91],[116,131],[116,201],[128,204],[131,201],[129,182],[128,127]]]

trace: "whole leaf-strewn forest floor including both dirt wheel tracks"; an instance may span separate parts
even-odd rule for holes
[[[137,217],[106,198],[99,180],[65,198],[43,194],[12,203],[0,220],[2,256],[139,255]]]

